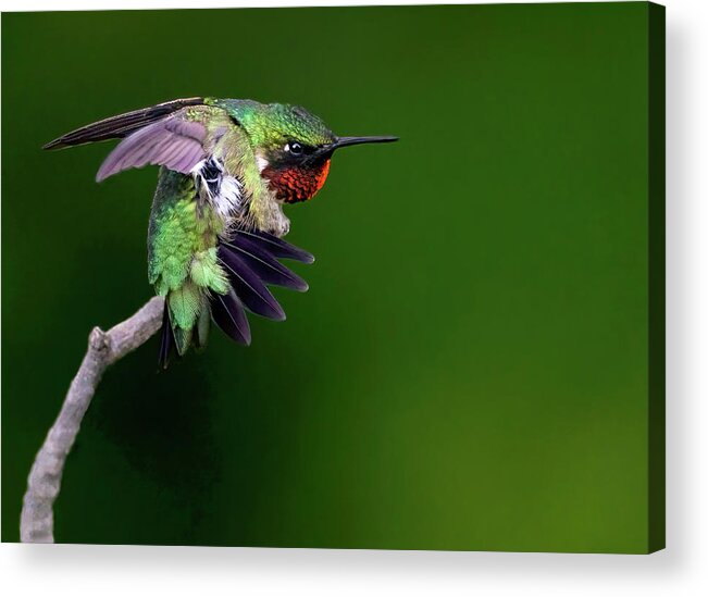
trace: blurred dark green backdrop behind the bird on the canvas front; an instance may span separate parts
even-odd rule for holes
[[[42,152],[178,97],[343,135],[288,209],[306,295],[109,371],[66,543],[647,551],[645,3],[2,16],[2,539],[86,348],[150,296],[156,170]]]

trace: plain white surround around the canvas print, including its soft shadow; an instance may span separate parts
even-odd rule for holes
[[[4,595],[708,595],[708,384],[704,373],[708,368],[708,2],[666,0],[666,4],[667,550],[654,556],[583,556],[3,545],[0,584]],[[0,0],[2,11],[237,5],[293,4]]]

